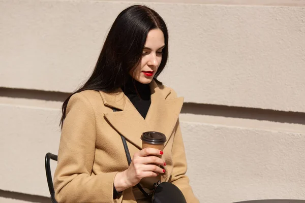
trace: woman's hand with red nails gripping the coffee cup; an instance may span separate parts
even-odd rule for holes
[[[120,192],[129,187],[133,187],[142,178],[156,177],[158,174],[165,173],[165,170],[158,166],[166,165],[161,158],[157,157],[161,154],[163,154],[162,151],[154,148],[144,148],[135,153],[128,169],[116,174],[114,177],[116,191]]]

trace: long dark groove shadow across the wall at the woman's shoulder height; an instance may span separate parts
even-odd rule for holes
[[[67,92],[14,89],[0,87],[0,97],[41,99],[47,101],[62,101],[70,95]],[[245,118],[255,120],[266,120],[280,123],[305,124],[305,113],[285,112],[269,109],[228,107],[222,105],[184,103],[181,113],[195,115],[221,116],[228,118]]]

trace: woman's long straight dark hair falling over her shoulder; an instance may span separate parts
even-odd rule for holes
[[[157,77],[163,71],[168,58],[168,30],[162,17],[154,10],[141,5],[134,5],[122,11],[113,22],[95,69],[85,84],[74,91],[62,107],[60,126],[63,127],[66,109],[70,97],[84,90],[112,92],[127,82],[130,71],[141,59],[146,37],[151,29],[161,29],[165,47]]]

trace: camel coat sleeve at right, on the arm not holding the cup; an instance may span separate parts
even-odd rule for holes
[[[195,197],[190,186],[187,172],[187,159],[185,147],[182,140],[179,120],[176,124],[176,132],[172,148],[173,171],[171,173],[171,183],[176,185],[186,197],[188,203],[197,203],[199,200]]]

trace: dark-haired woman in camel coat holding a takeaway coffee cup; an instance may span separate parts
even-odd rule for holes
[[[157,80],[167,56],[167,28],[154,10],[131,6],[117,16],[92,76],[63,104],[58,202],[149,202],[135,186],[140,182],[149,192],[156,178],[176,185],[187,202],[199,202],[185,175],[178,121],[183,99]],[[145,131],[166,135],[163,151],[141,148]],[[130,166],[120,134],[133,157]]]

